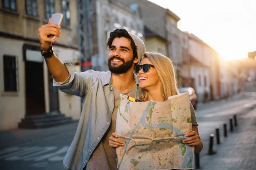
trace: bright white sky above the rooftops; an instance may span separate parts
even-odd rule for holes
[[[195,34],[224,59],[256,51],[256,0],[149,0],[180,17],[178,28]]]

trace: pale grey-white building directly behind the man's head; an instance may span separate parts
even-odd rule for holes
[[[92,69],[108,71],[108,49],[106,41],[109,33],[117,28],[125,28],[144,40],[143,21],[137,6],[125,6],[117,0],[94,0],[92,10]],[[90,43],[90,42],[89,42]]]

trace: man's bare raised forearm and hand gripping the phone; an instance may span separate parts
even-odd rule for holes
[[[50,20],[51,19],[49,19],[49,22]],[[61,27],[57,24],[50,24],[49,22],[48,24],[43,25],[41,26],[41,28],[38,29],[40,37],[40,47],[42,51],[47,51],[51,47],[52,42],[57,42],[57,40],[48,38],[48,35],[52,34],[56,37],[60,37],[61,35],[61,31],[59,31],[59,28]],[[45,61],[47,63],[47,67],[50,73],[52,74],[56,82],[64,82],[69,77],[67,68],[55,55],[55,53],[53,53],[51,57],[45,58]]]

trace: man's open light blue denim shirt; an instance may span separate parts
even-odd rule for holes
[[[53,80],[53,85],[64,93],[80,96],[83,102],[76,134],[63,165],[67,170],[82,170],[111,123],[115,101],[111,72],[88,70],[76,73],[69,62],[64,65],[70,74],[69,78],[64,82]],[[139,81],[135,74],[134,78],[137,98]]]

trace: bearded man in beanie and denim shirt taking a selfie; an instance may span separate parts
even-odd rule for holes
[[[53,85],[67,94],[83,100],[81,117],[73,142],[64,157],[68,170],[117,170],[116,150],[109,146],[109,137],[116,128],[116,114],[120,94],[138,98],[138,79],[134,74],[145,52],[143,41],[125,29],[110,33],[107,47],[107,72],[88,70],[74,72],[70,63],[62,63],[54,54],[47,36],[60,37],[60,27],[46,24],[38,29],[42,55],[54,77]]]

